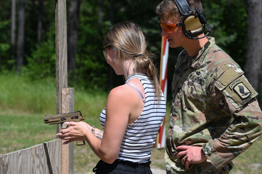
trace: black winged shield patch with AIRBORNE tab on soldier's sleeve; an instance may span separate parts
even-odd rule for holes
[[[234,80],[230,86],[231,89],[241,97],[242,99],[248,98],[251,95],[251,91],[244,85],[241,79]]]

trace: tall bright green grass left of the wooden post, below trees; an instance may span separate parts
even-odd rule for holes
[[[2,72],[0,79],[0,112],[56,113],[55,78],[31,81],[23,75]]]

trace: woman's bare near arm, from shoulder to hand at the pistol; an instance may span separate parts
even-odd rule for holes
[[[104,131],[103,133],[99,130],[95,131],[96,135],[103,134],[102,140],[97,139],[89,128],[86,129],[86,125],[80,122],[68,122],[67,124],[72,127],[61,130],[57,135],[64,140],[70,139],[65,144],[85,140],[100,159],[109,164],[113,163],[118,157],[130,113],[134,110],[134,103],[137,103],[137,99],[141,100],[141,98],[133,97],[134,92],[136,91],[126,90],[126,85],[123,85],[112,89],[109,93]]]

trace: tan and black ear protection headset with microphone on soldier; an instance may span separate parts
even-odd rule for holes
[[[200,38],[195,38],[196,36],[203,33],[205,30],[205,24],[207,24],[205,17],[201,13],[200,9],[190,9],[189,4],[186,0],[173,0],[176,4],[178,11],[186,16],[185,19],[181,20],[181,25],[184,31],[184,34],[189,39],[202,39],[208,35],[214,28],[213,24],[210,24],[207,29],[205,36]],[[195,14],[193,14],[195,12]]]

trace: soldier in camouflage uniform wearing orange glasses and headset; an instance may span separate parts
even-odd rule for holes
[[[167,173],[229,173],[232,160],[261,135],[258,93],[239,65],[205,35],[200,0],[163,0],[162,36],[182,46],[172,82]]]

